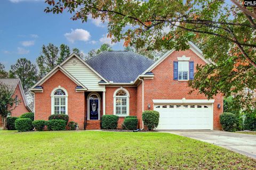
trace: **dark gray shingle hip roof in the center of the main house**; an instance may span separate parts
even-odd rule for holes
[[[86,61],[103,78],[118,83],[134,81],[154,62],[147,57],[127,51],[103,52]]]

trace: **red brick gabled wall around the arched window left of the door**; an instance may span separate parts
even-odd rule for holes
[[[69,121],[77,122],[79,129],[84,129],[84,92],[76,92],[77,85],[61,71],[56,72],[42,84],[44,92],[35,93],[35,120],[48,120],[51,115],[51,92],[58,86],[65,88],[68,92]]]

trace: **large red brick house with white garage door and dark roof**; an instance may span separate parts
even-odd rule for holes
[[[35,93],[35,120],[68,114],[79,129],[100,129],[105,114],[139,119],[142,112],[160,113],[157,129],[221,129],[223,97],[207,100],[188,94],[197,64],[210,63],[193,43],[185,51],[170,50],[156,62],[133,52],[103,52],[83,61],[71,54],[30,90]],[[87,123],[86,123],[87,122]]]

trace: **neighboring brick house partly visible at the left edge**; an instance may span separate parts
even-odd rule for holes
[[[10,116],[18,117],[23,113],[33,112],[28,106],[25,93],[22,88],[20,79],[0,79],[0,84],[5,84],[12,91],[12,98],[15,98],[15,107]],[[0,128],[2,128],[3,122],[0,118]]]

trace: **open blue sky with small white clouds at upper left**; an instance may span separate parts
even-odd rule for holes
[[[32,63],[40,55],[42,46],[66,44],[85,54],[108,43],[113,50],[123,50],[123,43],[111,44],[107,25],[100,20],[70,20],[71,14],[45,13],[44,0],[0,0],[0,63],[9,71],[18,58]]]

